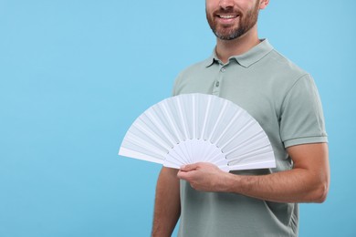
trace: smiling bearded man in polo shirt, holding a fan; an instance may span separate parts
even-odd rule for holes
[[[206,93],[245,108],[265,129],[276,169],[225,173],[209,163],[162,168],[153,236],[298,236],[298,202],[325,201],[330,180],[318,91],[308,73],[257,36],[269,0],[206,0],[212,57],[184,70],[173,94]]]

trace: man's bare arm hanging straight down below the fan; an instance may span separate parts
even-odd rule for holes
[[[171,236],[181,214],[178,170],[163,167],[157,180],[152,236]]]

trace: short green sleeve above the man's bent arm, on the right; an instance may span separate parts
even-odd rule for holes
[[[286,148],[328,142],[319,92],[309,75],[298,78],[284,99],[280,137]]]

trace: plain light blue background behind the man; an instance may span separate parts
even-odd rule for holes
[[[308,70],[331,185],[300,236],[356,236],[354,0],[271,0],[260,37]],[[215,37],[204,1],[0,0],[0,236],[149,236],[161,166],[117,156]]]

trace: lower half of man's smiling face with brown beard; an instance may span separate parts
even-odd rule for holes
[[[259,0],[206,0],[206,18],[215,36],[243,36],[257,24]]]

